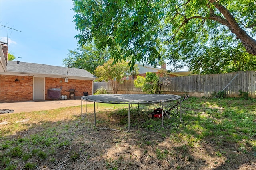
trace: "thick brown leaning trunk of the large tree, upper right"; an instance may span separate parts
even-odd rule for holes
[[[215,14],[210,15],[211,20],[218,21],[222,25],[226,25],[232,33],[236,35],[237,39],[240,39],[240,41],[243,43],[246,51],[250,54],[256,55],[256,40],[250,37],[246,31],[244,31],[237,23],[237,21],[234,19],[232,14],[221,4],[218,3],[216,0],[209,0],[215,8],[219,10],[219,12],[226,18],[222,18],[220,16],[216,16]],[[210,9],[211,13],[211,9]]]

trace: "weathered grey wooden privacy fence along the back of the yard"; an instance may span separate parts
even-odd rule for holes
[[[236,74],[238,74],[236,76]],[[236,78],[234,78],[236,76]],[[230,81],[234,80],[230,83]],[[165,78],[163,78],[164,80]],[[194,96],[211,97],[214,92],[216,94],[224,90],[228,97],[239,97],[239,91],[249,92],[249,96],[256,98],[256,71],[233,72],[226,74],[210,74],[210,75],[192,75],[183,77],[171,77],[171,84],[162,87],[162,92],[166,94],[188,93]],[[105,88],[108,92],[112,92],[110,83],[96,82],[94,83],[94,92],[98,88]],[[124,84],[120,84],[118,93],[132,94],[142,93],[140,88],[135,88],[133,80],[128,80]],[[190,95],[191,95],[190,94]],[[191,95],[193,96],[193,95]]]

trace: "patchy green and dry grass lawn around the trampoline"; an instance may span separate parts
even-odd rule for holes
[[[173,104],[166,103],[164,110]],[[97,126],[126,131],[127,107],[123,104],[96,104]],[[54,165],[61,160],[59,157],[67,154],[66,158],[72,163],[89,161],[105,155],[104,149],[115,150],[118,146],[132,152],[126,149],[132,145],[124,147],[122,144],[122,141],[129,139],[140,149],[138,153],[143,158],[156,159],[158,162],[170,160],[176,169],[184,168],[187,162],[202,162],[199,158],[196,160],[194,153],[198,152],[202,157],[212,158],[212,166],[217,166],[214,162],[223,159],[230,164],[229,169],[232,169],[235,161],[240,161],[238,154],[248,156],[251,161],[256,160],[256,100],[190,97],[182,102],[182,121],[177,110],[173,109],[170,119],[164,117],[164,127],[161,126],[161,119],[148,118],[148,114],[157,107],[161,106],[150,104],[138,108],[138,105],[133,105],[129,133],[110,133],[95,128],[93,104],[87,106],[88,113],[83,121],[80,106],[1,115],[1,120],[9,123],[0,127],[0,169],[34,169],[36,165],[32,162]],[[27,118],[30,118],[27,124],[16,123],[16,120]],[[105,133],[110,134],[101,139]],[[104,148],[102,141],[108,141],[113,146]],[[164,141],[168,141],[168,144],[162,144]],[[97,144],[98,147],[93,147]],[[208,147],[211,150],[206,150]],[[93,156],[91,148],[103,151]],[[134,154],[126,155],[124,150],[122,155],[104,159],[105,168],[122,169],[126,165],[132,169],[133,159],[141,158]],[[200,153],[200,150],[204,152]],[[210,153],[210,156],[205,153]],[[126,162],[128,160],[131,162]],[[180,161],[184,161],[183,164]],[[22,162],[22,167],[18,162]]]

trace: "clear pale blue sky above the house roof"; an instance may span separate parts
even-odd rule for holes
[[[9,53],[20,62],[64,66],[77,48],[73,7],[72,0],[0,0],[0,25],[22,31],[9,29]],[[0,26],[1,41],[7,30]]]

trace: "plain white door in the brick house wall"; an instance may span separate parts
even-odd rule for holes
[[[44,99],[44,77],[34,77],[34,100]]]

